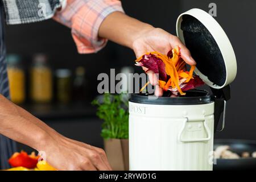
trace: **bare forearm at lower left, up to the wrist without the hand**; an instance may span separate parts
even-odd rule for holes
[[[0,134],[17,142],[42,150],[53,140],[56,131],[5,97],[0,96]]]

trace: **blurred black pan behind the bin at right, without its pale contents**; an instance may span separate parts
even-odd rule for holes
[[[240,139],[216,139],[214,140],[214,150],[218,146],[228,145],[230,151],[241,156],[242,152],[251,153],[256,151],[255,140]],[[217,159],[217,164],[213,165],[213,170],[248,170],[256,169],[256,158],[241,159]]]

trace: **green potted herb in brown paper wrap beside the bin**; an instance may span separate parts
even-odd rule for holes
[[[97,116],[104,120],[101,136],[109,163],[114,170],[129,170],[129,111],[127,94],[105,93],[94,100]]]

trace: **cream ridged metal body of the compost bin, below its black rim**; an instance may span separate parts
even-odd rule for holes
[[[212,170],[214,102],[129,102],[130,170]]]

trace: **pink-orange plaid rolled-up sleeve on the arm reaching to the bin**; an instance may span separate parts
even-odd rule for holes
[[[53,19],[71,28],[79,53],[93,53],[106,45],[107,40],[98,37],[98,29],[114,11],[123,12],[118,0],[67,0]]]

